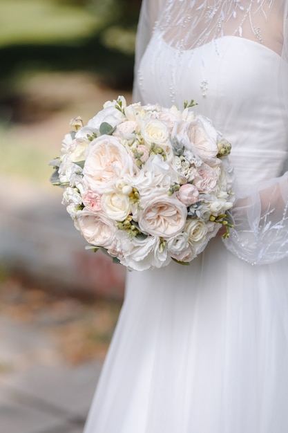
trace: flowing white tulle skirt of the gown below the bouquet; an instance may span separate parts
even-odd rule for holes
[[[128,273],[84,433],[287,433],[287,265],[218,237],[189,266]]]

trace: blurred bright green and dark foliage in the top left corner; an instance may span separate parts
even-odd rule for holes
[[[1,0],[0,116],[27,71],[88,71],[131,89],[141,0]]]

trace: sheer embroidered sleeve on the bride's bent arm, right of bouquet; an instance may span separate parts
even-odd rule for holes
[[[284,13],[282,63],[279,71],[279,92],[285,94],[288,122],[288,26],[287,2]],[[271,148],[276,143],[271,143]],[[232,215],[235,228],[224,243],[241,259],[251,264],[268,264],[288,255],[288,161],[285,174],[259,185],[240,190]]]

